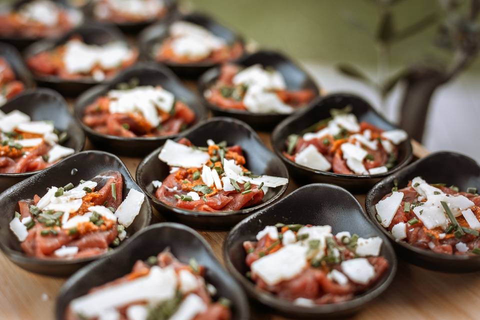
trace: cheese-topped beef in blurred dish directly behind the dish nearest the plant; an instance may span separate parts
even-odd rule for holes
[[[315,96],[311,89],[289,90],[275,69],[230,63],[221,66],[218,79],[203,94],[220,108],[253,113],[291,113]]]

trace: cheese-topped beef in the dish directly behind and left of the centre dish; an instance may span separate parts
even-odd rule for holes
[[[161,86],[120,83],[85,108],[83,123],[98,133],[137,137],[176,134],[195,113]]]

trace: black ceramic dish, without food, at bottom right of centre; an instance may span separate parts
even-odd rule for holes
[[[266,225],[277,222],[289,224],[331,225],[334,233],[349,231],[362,237],[380,236],[383,240],[380,255],[389,263],[386,274],[366,292],[353,299],[313,307],[295,305],[288,300],[275,297],[259,290],[245,276],[246,253],[242,243],[255,240],[255,236]],[[238,223],[223,243],[223,259],[228,271],[240,282],[247,294],[282,315],[299,317],[333,317],[349,315],[380,295],[391,283],[397,268],[395,252],[385,235],[378,232],[365,218],[361,205],[345,189],[331,184],[309,184],[302,186],[280,201],[266,207]]]

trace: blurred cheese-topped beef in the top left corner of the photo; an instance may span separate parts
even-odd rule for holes
[[[58,1],[26,1],[0,10],[0,36],[42,38],[60,36],[80,24],[82,14]]]

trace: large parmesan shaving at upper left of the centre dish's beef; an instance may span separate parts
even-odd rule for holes
[[[190,168],[202,166],[202,164],[208,161],[210,155],[207,152],[168,139],[163,145],[158,158],[171,166]]]

